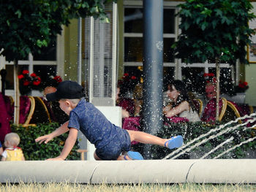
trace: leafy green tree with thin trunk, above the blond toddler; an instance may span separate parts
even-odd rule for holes
[[[7,61],[14,61],[15,105],[19,107],[18,60],[29,53],[41,53],[61,26],[68,26],[72,18],[93,16],[105,22],[104,6],[115,0],[10,0],[0,1],[0,50]],[[15,123],[19,110],[15,107]]]

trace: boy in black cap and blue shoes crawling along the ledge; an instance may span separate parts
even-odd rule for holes
[[[51,134],[35,139],[36,142],[48,143],[69,131],[64,148],[56,158],[48,160],[64,160],[75,145],[78,130],[95,145],[94,158],[96,160],[143,160],[138,152],[129,151],[132,141],[144,144],[154,144],[168,147],[170,149],[181,147],[183,138],[181,136],[170,139],[162,139],[141,131],[124,130],[105,118],[93,104],[83,99],[83,87],[77,82],[60,82],[55,93],[47,94],[48,101],[59,101],[61,110],[69,115],[69,121],[57,128]],[[120,155],[127,152],[126,155]]]

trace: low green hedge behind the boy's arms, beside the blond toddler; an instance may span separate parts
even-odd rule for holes
[[[26,161],[45,160],[59,156],[64,147],[64,142],[67,139],[67,133],[59,137],[55,137],[48,144],[39,144],[34,141],[37,137],[45,134],[50,134],[59,127],[58,123],[38,124],[37,126],[23,127],[12,125],[12,132],[20,136],[20,145]],[[72,151],[67,156],[67,160],[79,160],[80,155],[78,150],[78,142],[72,148]]]

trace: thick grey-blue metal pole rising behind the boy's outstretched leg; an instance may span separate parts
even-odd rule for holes
[[[162,127],[163,1],[143,0],[143,129]]]

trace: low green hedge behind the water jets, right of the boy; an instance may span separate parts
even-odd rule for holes
[[[237,124],[233,124],[232,126],[236,126]],[[203,122],[196,122],[196,123],[169,123],[168,125],[163,126],[162,129],[160,129],[157,132],[158,137],[162,138],[170,138],[176,135],[182,135],[184,137],[184,144],[186,145],[189,141],[192,141],[193,139],[199,137],[202,134],[208,133],[208,131],[211,131],[211,129],[219,127],[219,124],[208,124]],[[225,127],[222,130],[227,130],[230,126]],[[221,131],[222,131],[221,130]],[[219,131],[214,131],[213,133],[209,134],[207,137],[203,137],[202,139],[199,139],[197,142],[202,141],[203,139],[207,139],[210,136],[214,136],[218,134]],[[227,144],[223,145],[222,147],[219,147],[218,150],[216,150],[214,153],[211,153],[206,158],[214,158],[215,156],[219,155],[225,150],[230,149],[230,147],[233,147],[235,145],[240,144],[241,142],[246,141],[249,138],[252,138],[252,136],[255,134],[255,130],[247,129],[244,131],[244,127],[237,128],[235,131],[227,131],[225,134],[220,135],[219,137],[216,137],[214,139],[209,139],[206,143],[203,145],[200,145],[198,147],[195,147],[195,149],[192,149],[188,153],[185,153],[184,155],[179,156],[178,158],[191,158],[193,156],[194,158],[200,158],[212,149],[214,147],[217,147],[222,142],[225,142],[230,137],[233,137],[234,139]],[[192,145],[195,145],[197,142],[195,142]],[[192,146],[189,145],[189,146]],[[230,153],[227,153],[226,155],[221,156],[220,158],[244,158],[246,151],[249,150],[255,150],[256,148],[256,142],[252,141],[247,144],[241,145],[241,147],[236,147],[236,149],[230,151]],[[184,150],[187,148],[184,148]],[[153,159],[161,159],[165,158],[166,155],[169,155],[174,150],[169,150],[167,147],[161,147],[158,145],[152,145],[151,146],[151,158]]]

